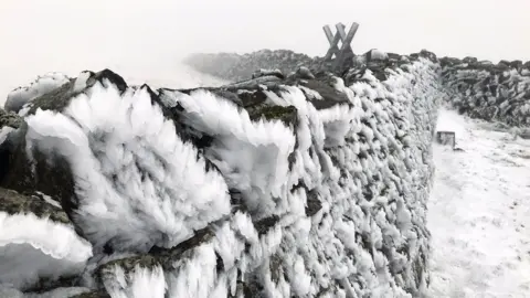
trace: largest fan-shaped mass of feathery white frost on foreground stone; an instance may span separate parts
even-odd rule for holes
[[[70,163],[72,217],[95,247],[173,246],[230,212],[227,187],[151,104],[147,88],[95,84],[62,114],[29,116],[29,146]],[[94,185],[98,185],[94,188]]]

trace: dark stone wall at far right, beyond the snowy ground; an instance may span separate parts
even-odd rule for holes
[[[530,125],[530,62],[441,58],[451,104],[474,118]]]

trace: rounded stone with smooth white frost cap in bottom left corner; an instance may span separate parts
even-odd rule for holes
[[[1,188],[0,231],[0,284],[18,289],[76,276],[92,256],[61,209]]]

